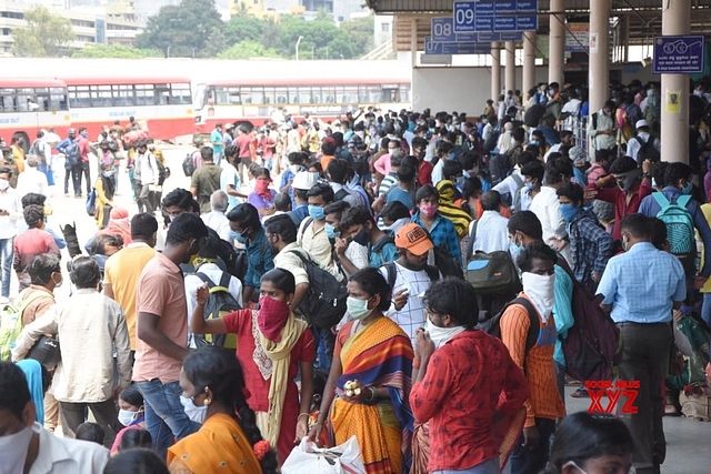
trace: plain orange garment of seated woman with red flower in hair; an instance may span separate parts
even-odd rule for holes
[[[171,473],[256,474],[262,467],[252,445],[237,421],[218,413],[206,420],[200,431],[168,448]]]

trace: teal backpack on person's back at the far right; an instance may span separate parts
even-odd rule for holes
[[[675,202],[669,202],[661,192],[654,192],[652,195],[661,208],[657,219],[667,225],[667,240],[671,245],[671,253],[679,258],[684,270],[689,271],[693,266],[697,253],[693,219],[687,210],[691,196],[680,195]]]

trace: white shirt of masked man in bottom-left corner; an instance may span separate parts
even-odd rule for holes
[[[40,448],[30,474],[96,474],[109,462],[109,450],[97,443],[57,437],[37,422],[32,431],[40,435]]]

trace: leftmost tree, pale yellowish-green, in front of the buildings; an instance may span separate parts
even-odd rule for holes
[[[60,57],[76,36],[68,19],[41,6],[24,12],[27,27],[18,27],[10,33],[13,40],[12,53],[18,57]]]

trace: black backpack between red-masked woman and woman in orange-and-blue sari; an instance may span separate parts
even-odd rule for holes
[[[346,314],[348,289],[310,256],[294,250],[290,252],[301,259],[309,276],[309,291],[299,304],[299,310],[309,324],[320,329],[333,327]]]

